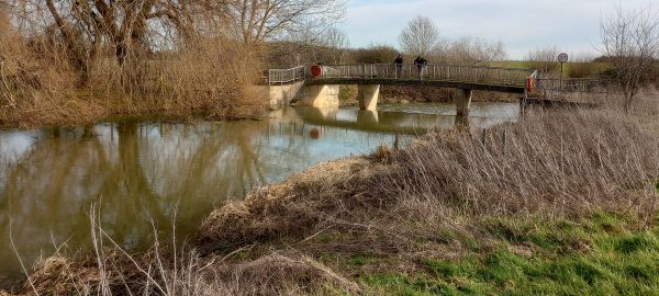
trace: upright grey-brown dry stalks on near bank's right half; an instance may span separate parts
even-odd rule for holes
[[[659,175],[656,139],[607,112],[550,113],[476,137],[439,136],[406,150],[404,161],[409,171],[392,178],[405,180],[400,190],[473,215],[614,209],[651,217]]]

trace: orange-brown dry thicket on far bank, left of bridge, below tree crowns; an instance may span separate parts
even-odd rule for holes
[[[0,13],[0,126],[77,125],[113,116],[174,119],[255,118],[266,93],[253,87],[260,61],[248,48],[216,34],[169,50],[135,50],[119,65],[111,48],[89,57],[80,83],[58,34],[26,38]]]

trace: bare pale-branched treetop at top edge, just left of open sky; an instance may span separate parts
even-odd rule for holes
[[[221,7],[247,45],[280,41],[289,34],[322,31],[343,18],[343,0],[228,0]]]

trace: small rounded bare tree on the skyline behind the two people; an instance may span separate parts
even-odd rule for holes
[[[399,43],[403,52],[411,55],[427,56],[439,45],[439,30],[426,16],[417,15],[399,35]]]

